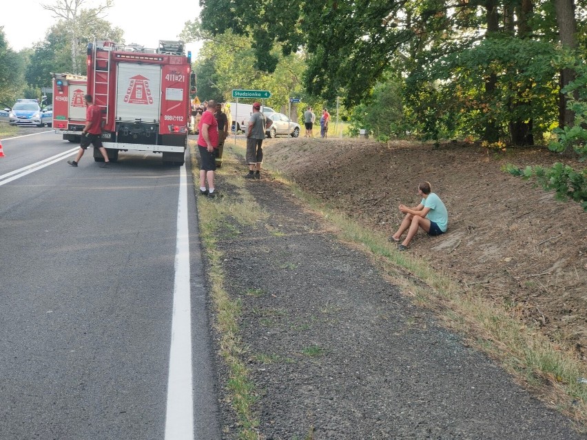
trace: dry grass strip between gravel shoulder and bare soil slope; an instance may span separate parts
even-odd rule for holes
[[[229,149],[238,156],[244,154],[243,147]],[[570,417],[579,432],[587,432],[587,369],[573,353],[550,342],[538,328],[524,324],[507,304],[488,302],[481,289],[462,286],[449,275],[431,269],[426,261],[396,251],[386,235],[329,209],[278,171],[275,176],[327,220],[341,240],[371,255],[404,294],[433,309],[447,328],[499,362],[539,399]]]

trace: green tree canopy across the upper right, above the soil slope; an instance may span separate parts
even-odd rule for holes
[[[202,28],[252,38],[261,70],[276,68],[274,43],[305,54],[310,95],[367,105],[390,72],[405,78],[404,116],[428,138],[534,143],[564,105],[568,70],[555,70],[553,59],[561,46],[584,53],[587,43],[584,0],[201,4]]]

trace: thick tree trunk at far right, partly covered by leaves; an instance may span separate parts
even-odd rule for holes
[[[559,39],[565,49],[577,48],[577,21],[575,20],[574,0],[555,0],[557,12],[557,25],[559,26]],[[561,90],[575,79],[575,71],[564,69],[560,72]],[[575,113],[566,108],[567,98],[559,92],[559,126],[573,125]]]

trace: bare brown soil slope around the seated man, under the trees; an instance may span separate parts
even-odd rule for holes
[[[402,218],[398,205],[418,205],[418,183],[428,180],[449,210],[449,231],[437,238],[420,231],[409,252],[482,289],[587,360],[587,213],[500,169],[505,163],[549,166],[560,156],[537,148],[497,157],[475,145],[433,149],[346,139],[264,146],[271,167],[389,235]]]

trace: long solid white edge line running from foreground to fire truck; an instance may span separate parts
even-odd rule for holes
[[[187,227],[187,174],[180,168],[177,207],[177,244],[165,440],[194,439],[192,393],[192,306],[189,291],[189,230]]]

